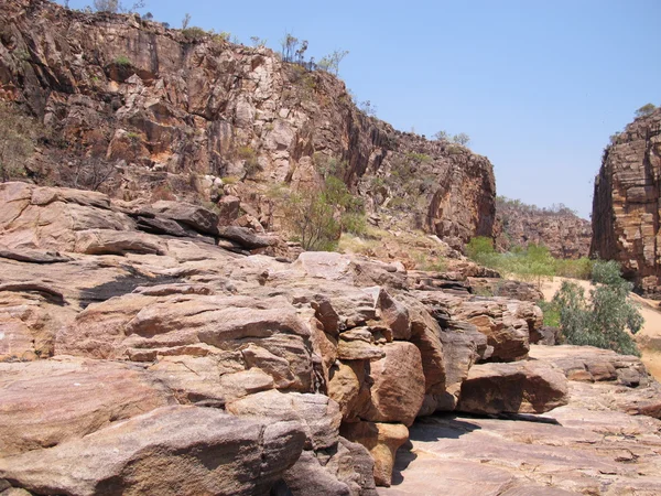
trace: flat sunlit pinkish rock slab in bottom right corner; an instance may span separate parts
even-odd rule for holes
[[[379,494],[661,494],[658,420],[571,406],[538,420],[419,420],[410,449],[398,451],[392,486]]]

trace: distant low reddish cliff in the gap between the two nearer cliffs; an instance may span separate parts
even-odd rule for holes
[[[543,245],[557,258],[587,257],[592,238],[589,220],[568,208],[542,209],[508,198],[496,198],[496,244],[500,249]]]

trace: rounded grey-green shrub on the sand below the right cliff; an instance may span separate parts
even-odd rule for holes
[[[567,281],[553,298],[567,343],[640,356],[626,332],[629,328],[637,333],[643,323],[638,308],[628,298],[632,284],[621,278],[619,266],[613,261],[595,261],[593,281],[599,285],[590,290],[589,299],[583,288]]]

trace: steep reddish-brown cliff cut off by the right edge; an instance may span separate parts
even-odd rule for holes
[[[590,254],[621,263],[625,277],[661,298],[659,208],[661,110],[636,119],[604,152],[595,179]]]

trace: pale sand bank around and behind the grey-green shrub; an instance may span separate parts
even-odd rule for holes
[[[544,299],[551,301],[553,295],[562,284],[564,278],[553,278],[544,282],[542,285],[542,293]],[[581,284],[585,289],[587,294],[592,284],[588,281],[573,280]],[[652,300],[646,300],[637,294],[631,293],[631,299],[640,304],[640,313],[644,319],[642,328],[636,334],[636,341],[639,343],[640,351],[642,353],[642,362],[646,367],[652,374],[657,380],[661,381],[661,348],[651,349],[646,346],[650,338],[655,338],[658,343],[661,343],[661,310],[659,310],[659,302]]]

